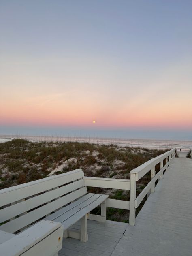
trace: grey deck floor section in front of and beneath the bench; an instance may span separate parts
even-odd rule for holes
[[[81,243],[77,239],[66,238],[60,256],[110,256],[115,246],[123,236],[128,224],[121,222],[106,221],[100,223],[94,220],[87,221],[89,240]],[[80,229],[80,222],[72,228]]]

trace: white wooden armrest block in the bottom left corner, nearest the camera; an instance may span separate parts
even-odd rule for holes
[[[53,256],[62,248],[63,226],[42,220],[0,245],[4,256]]]

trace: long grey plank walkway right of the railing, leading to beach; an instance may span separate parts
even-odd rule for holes
[[[112,256],[192,255],[192,159],[175,158]],[[129,252],[129,253],[128,253]]]

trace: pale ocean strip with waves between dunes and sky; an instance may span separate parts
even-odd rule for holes
[[[120,139],[120,138],[93,138],[93,137],[59,137],[59,136],[26,136],[26,135],[0,135],[0,143],[20,138],[28,141],[53,141],[53,142],[89,142],[100,145],[114,144],[120,147],[141,147],[147,149],[171,149],[176,148],[182,151],[188,151],[192,148],[192,141],[172,141],[172,140],[156,140],[156,139]]]

